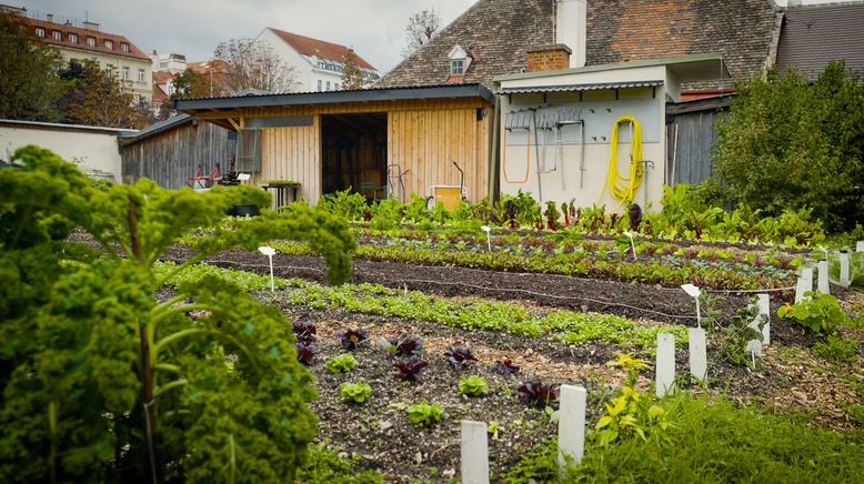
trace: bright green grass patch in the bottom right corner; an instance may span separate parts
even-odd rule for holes
[[[682,393],[674,397],[665,436],[634,437],[609,446],[589,440],[582,464],[560,480],[555,443],[528,454],[506,472],[508,483],[528,482],[861,482],[864,432],[813,428],[786,415],[726,400],[709,402]]]

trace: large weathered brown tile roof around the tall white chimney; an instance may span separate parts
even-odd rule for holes
[[[446,54],[459,43],[476,53],[464,82],[491,87],[494,77],[523,70],[525,48],[554,42],[554,6],[555,0],[480,0],[376,85],[445,82]],[[765,65],[776,16],[771,0],[589,0],[586,63],[717,52],[733,78],[749,78]]]

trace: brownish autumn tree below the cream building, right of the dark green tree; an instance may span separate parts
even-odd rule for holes
[[[102,71],[99,62],[72,62],[60,77],[71,84],[60,102],[68,121],[108,128],[140,129],[148,124],[149,107],[135,102],[134,95],[119,79]]]

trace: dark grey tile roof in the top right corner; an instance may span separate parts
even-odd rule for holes
[[[777,68],[815,77],[828,61],[864,72],[864,3],[790,7],[777,47]]]

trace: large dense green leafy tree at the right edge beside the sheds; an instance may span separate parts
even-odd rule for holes
[[[737,203],[777,215],[813,209],[832,231],[864,220],[864,84],[842,62],[815,83],[771,71],[740,85],[715,167]]]

